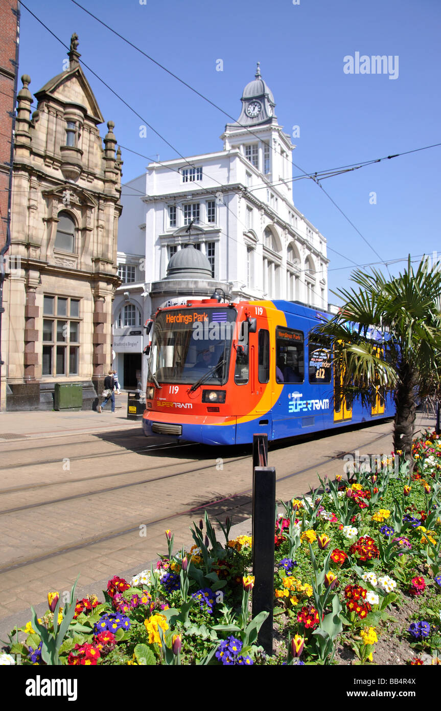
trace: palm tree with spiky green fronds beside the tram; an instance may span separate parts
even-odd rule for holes
[[[412,442],[418,398],[440,393],[441,264],[423,258],[398,277],[356,270],[359,289],[333,292],[339,313],[312,329],[314,339],[332,341],[336,396],[359,397],[371,407],[392,393],[396,405],[393,447],[413,465]],[[341,387],[338,383],[341,381]]]

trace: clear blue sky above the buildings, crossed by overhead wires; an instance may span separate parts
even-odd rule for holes
[[[260,61],[279,123],[289,134],[300,127],[293,138],[293,161],[308,173],[441,141],[439,0],[141,2],[81,4],[234,118]],[[81,61],[180,154],[222,149],[219,135],[229,120],[222,112],[71,0],[26,0],[26,6],[65,44],[77,32]],[[391,64],[391,74],[398,76],[344,73],[344,57],[356,52],[398,56],[398,65],[395,59]],[[60,43],[22,6],[20,74],[31,75],[32,92],[62,71],[65,56]],[[219,59],[222,72],[216,70]],[[178,157],[149,129],[141,138],[141,119],[83,68],[105,120],[115,123],[121,146],[151,159]],[[103,126],[103,136],[106,130]],[[418,261],[418,255],[433,251],[441,255],[440,151],[438,146],[322,181],[367,244],[313,181],[293,183],[295,205],[327,238],[330,289],[349,285],[352,262],[392,261],[409,253]],[[124,148],[122,157],[123,181],[143,173],[148,163]],[[293,175],[299,174],[293,166]],[[400,262],[389,269],[396,274],[404,266]],[[330,295],[330,301],[337,299]]]

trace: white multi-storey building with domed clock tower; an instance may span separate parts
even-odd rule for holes
[[[118,261],[125,282],[114,302],[120,380],[118,353],[136,349],[137,357],[124,362],[131,360],[133,369],[136,360],[136,370],[145,369],[146,336],[137,344],[126,336],[151,316],[151,285],[164,279],[170,258],[189,242],[207,256],[212,277],[227,282],[235,301],[287,299],[327,309],[326,240],[293,203],[295,146],[278,124],[259,65],[241,102],[239,119],[221,136],[222,151],[149,164],[147,173],[124,185],[123,195],[139,199],[121,197]],[[146,373],[142,380],[145,385]]]

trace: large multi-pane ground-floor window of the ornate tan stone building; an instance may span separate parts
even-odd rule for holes
[[[79,299],[43,296],[43,375],[78,375],[80,323]]]

